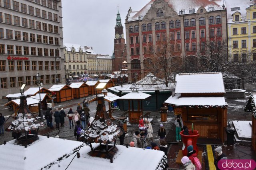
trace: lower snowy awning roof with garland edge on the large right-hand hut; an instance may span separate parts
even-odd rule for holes
[[[177,106],[225,106],[224,97],[181,97],[176,94],[168,98],[165,103]]]

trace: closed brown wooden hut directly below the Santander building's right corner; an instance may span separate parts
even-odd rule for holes
[[[73,89],[66,84],[53,85],[49,90],[55,93],[54,102],[66,102],[74,98]]]

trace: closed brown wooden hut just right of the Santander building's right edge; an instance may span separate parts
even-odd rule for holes
[[[70,84],[70,87],[73,88],[74,98],[83,98],[89,96],[89,86],[83,82],[72,83]]]

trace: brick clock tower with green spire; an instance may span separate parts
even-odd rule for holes
[[[114,37],[114,54],[112,57],[112,70],[120,71],[123,69],[123,62],[126,60],[126,44],[124,39],[124,27],[119,13],[116,14],[116,26],[115,26],[115,37]]]

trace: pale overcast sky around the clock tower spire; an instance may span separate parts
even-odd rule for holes
[[[117,6],[125,34],[125,17],[130,7],[140,10],[150,0],[62,0],[65,43],[93,47],[93,51],[112,56]]]

